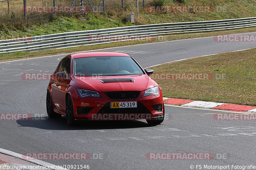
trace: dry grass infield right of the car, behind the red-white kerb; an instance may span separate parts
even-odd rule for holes
[[[151,69],[155,70],[154,74],[212,74],[210,80],[156,80],[164,97],[256,106],[255,68],[256,49],[250,49],[188,59]]]

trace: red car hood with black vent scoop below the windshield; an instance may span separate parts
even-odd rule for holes
[[[97,92],[113,91],[144,91],[155,87],[157,84],[154,80],[144,75],[130,76],[104,76],[104,77],[74,77],[72,78],[81,89],[92,90]]]

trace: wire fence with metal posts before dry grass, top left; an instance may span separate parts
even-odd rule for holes
[[[150,5],[153,0],[138,0],[139,7]],[[0,0],[0,20],[40,22],[53,15],[105,12],[107,9],[125,9],[137,6],[136,0]]]

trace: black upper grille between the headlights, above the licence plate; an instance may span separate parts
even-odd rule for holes
[[[109,99],[137,99],[140,91],[105,92]]]

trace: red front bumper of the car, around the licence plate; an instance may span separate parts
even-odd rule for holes
[[[143,97],[144,91],[140,92],[136,99],[120,99],[111,100],[105,93],[101,93],[102,98],[80,98],[79,95],[72,94],[72,100],[74,104],[74,117],[76,120],[98,120],[93,119],[96,115],[102,114],[111,117],[109,120],[126,120],[118,119],[121,117],[128,120],[140,120],[162,118],[163,115],[163,97],[160,91],[160,95],[150,95]],[[110,102],[124,102],[124,101],[137,101],[137,108],[110,108]],[[116,116],[117,114],[117,116]],[[111,116],[113,115],[113,116]],[[123,116],[122,116],[123,115]],[[140,116],[139,116],[140,115]],[[115,117],[116,116],[116,117]],[[119,117],[118,117],[119,116]],[[117,119],[116,119],[117,118]],[[102,120],[102,119],[100,119]],[[104,120],[108,120],[104,119]]]

